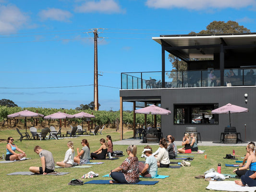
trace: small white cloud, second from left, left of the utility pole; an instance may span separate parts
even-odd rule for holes
[[[69,18],[72,17],[72,13],[56,8],[48,8],[38,13],[42,20],[53,20],[61,22],[69,22]]]

